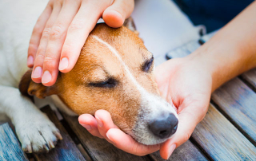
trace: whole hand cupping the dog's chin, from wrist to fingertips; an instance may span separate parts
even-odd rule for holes
[[[166,61],[156,68],[155,76],[161,95],[178,108],[178,130],[161,146],[138,143],[119,130],[113,124],[110,113],[104,110],[95,113],[96,119],[89,114],[80,116],[79,123],[92,135],[108,140],[123,151],[134,155],[147,155],[160,148],[162,158],[168,159],[176,147],[190,138],[195,126],[206,115],[212,79],[206,68],[190,58]]]

